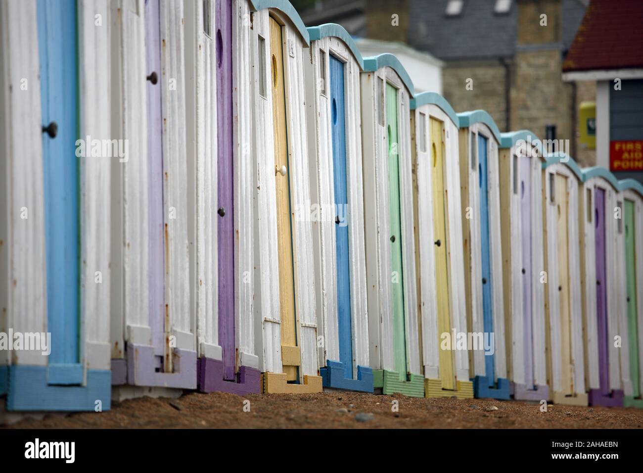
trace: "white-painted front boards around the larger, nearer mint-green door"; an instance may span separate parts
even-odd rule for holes
[[[407,373],[421,373],[415,279],[413,179],[410,136],[410,93],[390,67],[361,74],[362,145],[367,255],[368,338],[370,366],[395,371],[391,298],[390,207],[388,202],[388,142],[386,127],[377,122],[381,101],[377,80],[398,89],[397,128],[400,174],[400,218],[404,281],[404,323]],[[386,116],[386,115],[385,115]]]

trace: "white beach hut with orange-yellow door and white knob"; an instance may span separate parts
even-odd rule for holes
[[[237,7],[236,54],[252,66],[239,82],[236,119],[239,133],[251,136],[255,160],[253,310],[263,390],[321,391],[305,110],[309,33],[287,1]]]

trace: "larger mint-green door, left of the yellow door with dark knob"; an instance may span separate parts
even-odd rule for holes
[[[397,144],[397,89],[390,84],[386,84],[386,131],[388,133],[388,199],[391,212],[393,350],[395,371],[400,374],[401,380],[406,380],[402,223],[400,219],[399,145]]]

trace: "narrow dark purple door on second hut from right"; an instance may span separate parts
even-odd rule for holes
[[[607,292],[605,286],[605,190],[594,190],[596,238],[596,316],[599,341],[599,381],[601,394],[610,394],[608,370]]]

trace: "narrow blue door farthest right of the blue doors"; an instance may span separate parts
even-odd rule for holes
[[[493,333],[491,317],[491,262],[489,261],[489,203],[487,198],[487,138],[478,134],[478,180],[480,181],[480,245],[482,248],[482,320],[485,333]],[[485,375],[493,386],[494,355],[484,357]]]

